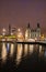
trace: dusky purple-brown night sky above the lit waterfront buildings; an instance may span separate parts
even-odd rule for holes
[[[9,23],[25,28],[28,22],[31,28],[39,22],[46,32],[46,0],[0,0],[0,29]]]

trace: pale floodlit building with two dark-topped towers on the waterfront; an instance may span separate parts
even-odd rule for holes
[[[36,29],[30,28],[30,23],[27,24],[26,31],[25,31],[25,40],[26,39],[39,39],[41,37],[41,27],[39,23],[37,23]]]

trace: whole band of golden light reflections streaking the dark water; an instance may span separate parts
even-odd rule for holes
[[[26,58],[28,54],[37,53],[38,58],[46,58],[45,47],[38,44],[16,44],[15,43],[2,43],[1,59],[2,62],[5,62],[7,59],[13,56],[16,65],[20,64],[23,58]],[[8,58],[9,56],[9,58]]]

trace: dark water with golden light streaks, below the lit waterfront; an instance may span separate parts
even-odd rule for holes
[[[46,45],[0,43],[0,72],[46,72]]]

